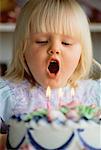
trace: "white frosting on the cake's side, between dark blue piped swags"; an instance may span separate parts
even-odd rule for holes
[[[63,146],[74,133],[74,138],[71,143],[66,146],[69,150],[80,150],[84,148],[83,141],[94,148],[101,148],[99,134],[101,132],[101,125],[83,119],[78,123],[70,119],[66,120],[66,117],[57,110],[51,111],[50,115],[52,119],[51,122],[48,122],[45,117],[38,121],[32,119],[29,122],[11,119],[9,122],[11,125],[9,132],[9,143],[11,146],[16,148],[24,135],[25,141],[23,144],[31,144],[30,134],[32,139],[42,147],[46,149],[58,149]],[[78,131],[78,129],[81,130]]]

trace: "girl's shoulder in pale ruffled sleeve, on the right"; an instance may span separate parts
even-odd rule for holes
[[[82,99],[87,104],[100,105],[101,80],[80,80],[78,82]]]

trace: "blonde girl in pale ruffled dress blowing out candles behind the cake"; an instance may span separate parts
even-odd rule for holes
[[[99,82],[87,79],[92,64],[89,24],[75,0],[28,1],[17,22],[13,50],[12,63],[0,80],[1,122],[46,108],[48,86],[53,108],[59,104],[59,88],[63,103],[99,105]],[[75,89],[72,97],[71,88]]]

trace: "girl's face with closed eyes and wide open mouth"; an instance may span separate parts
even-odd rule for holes
[[[75,71],[81,56],[80,43],[55,33],[31,35],[25,52],[28,67],[43,87],[63,87]]]

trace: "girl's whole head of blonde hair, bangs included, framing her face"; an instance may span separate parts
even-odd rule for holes
[[[54,32],[76,38],[82,46],[79,64],[68,80],[71,85],[89,74],[92,43],[87,17],[76,0],[29,0],[19,16],[14,40],[13,60],[6,75],[13,81],[33,80],[24,52],[30,33]]]

